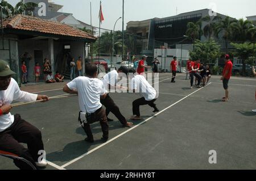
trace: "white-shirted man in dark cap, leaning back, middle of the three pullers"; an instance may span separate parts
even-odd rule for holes
[[[118,71],[112,70],[108,74],[104,75],[104,77],[101,79],[101,81],[104,83],[105,89],[108,90],[109,86],[113,86],[114,88],[116,87],[118,89],[126,89],[127,90],[127,87],[118,86],[116,84],[118,81],[118,73],[124,73],[125,75],[127,75],[128,71],[129,71],[128,68],[126,68],[125,66],[121,66],[118,69]],[[109,112],[112,112],[124,127],[130,128],[131,125],[133,125],[133,123],[127,122],[125,117],[120,112],[118,106],[114,103],[114,100],[108,94],[108,91],[106,91],[106,93],[107,93],[106,98],[101,99],[101,104],[103,104],[106,107],[107,118],[108,118]],[[108,121],[113,121],[113,120],[108,118]]]

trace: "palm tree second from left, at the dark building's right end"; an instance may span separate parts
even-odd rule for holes
[[[208,37],[208,41],[214,37],[214,30],[217,26],[216,21],[220,19],[220,16],[205,16],[200,19],[201,22],[207,22],[207,25],[203,28],[203,33],[205,37]]]

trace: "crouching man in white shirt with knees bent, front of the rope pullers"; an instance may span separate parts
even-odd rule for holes
[[[129,73],[135,74],[135,70],[131,69]],[[158,98],[156,90],[147,82],[143,75],[133,75],[130,82],[130,89],[133,92],[139,92],[142,98],[134,100],[133,102],[133,116],[132,120],[141,120],[141,113],[139,112],[139,106],[146,105],[154,108],[153,112],[159,112],[156,108],[155,100]]]

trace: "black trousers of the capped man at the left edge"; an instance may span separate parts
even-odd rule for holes
[[[27,144],[27,148],[19,144]],[[14,164],[21,170],[36,169],[39,150],[44,150],[42,134],[38,128],[14,115],[14,123],[10,128],[0,132],[0,150],[15,154],[22,159],[14,159]]]

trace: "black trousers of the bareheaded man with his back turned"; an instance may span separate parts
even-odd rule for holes
[[[90,124],[82,123],[82,121],[80,119],[80,112],[79,112],[79,121],[80,121],[80,124],[81,124],[82,128],[84,129],[84,132],[86,133],[88,139],[93,140],[93,134],[92,134],[92,130],[90,129]],[[99,110],[97,110],[95,112],[93,121],[94,122],[100,121],[103,137],[108,138],[109,137],[109,124],[108,124],[108,120],[106,117],[106,112],[103,108],[100,108]]]

